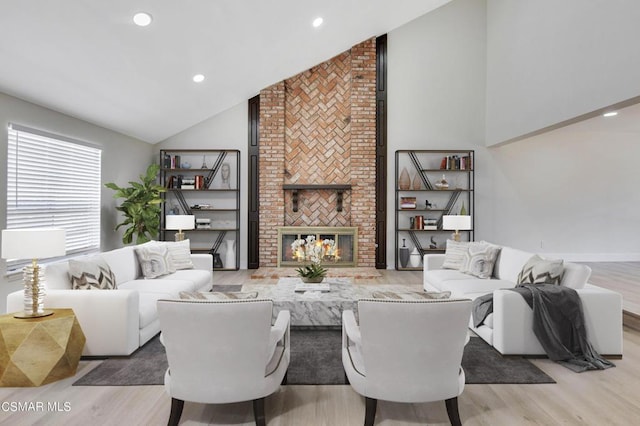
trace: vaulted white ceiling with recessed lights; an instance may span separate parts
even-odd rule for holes
[[[2,0],[0,91],[156,143],[448,1]]]

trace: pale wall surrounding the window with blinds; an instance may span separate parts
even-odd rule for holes
[[[122,134],[89,124],[85,121],[43,108],[38,105],[0,93],[0,200],[7,199],[7,126],[9,123],[21,124],[50,133],[78,139],[102,149],[102,182],[118,182],[137,179],[152,161],[152,145]],[[3,202],[4,205],[4,202]],[[102,250],[122,246],[122,232],[114,228],[120,218],[115,210],[116,200],[113,191],[103,188],[101,195]],[[7,223],[7,211],[0,209],[2,228]],[[4,312],[6,295],[20,289],[21,283],[12,277],[7,279],[6,265],[0,260],[0,312]]]

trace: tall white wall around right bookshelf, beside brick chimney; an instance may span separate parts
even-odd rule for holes
[[[485,2],[454,0],[388,34],[387,264],[394,267],[395,151],[474,149],[476,239],[492,236],[486,167]]]

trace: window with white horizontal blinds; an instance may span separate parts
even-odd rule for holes
[[[64,228],[67,256],[99,250],[102,150],[15,124],[8,134],[7,229]]]

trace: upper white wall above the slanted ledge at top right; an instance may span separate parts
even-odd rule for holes
[[[488,0],[487,144],[640,95],[640,2]]]

